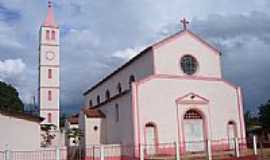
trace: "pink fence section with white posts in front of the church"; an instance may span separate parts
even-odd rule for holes
[[[256,145],[254,145],[256,144]],[[256,139],[224,139],[183,143],[141,144],[136,146],[101,145],[87,146],[84,160],[133,160],[133,159],[176,159],[176,160],[235,160],[258,159]],[[265,149],[265,148],[263,148]],[[263,159],[266,160],[265,156]]]

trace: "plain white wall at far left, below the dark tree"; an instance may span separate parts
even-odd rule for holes
[[[5,150],[7,144],[12,150],[40,148],[39,123],[0,114],[0,128],[0,150]]]

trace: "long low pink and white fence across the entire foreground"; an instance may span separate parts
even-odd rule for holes
[[[0,151],[0,160],[270,160],[270,142],[223,139],[158,145],[92,145],[38,151]]]

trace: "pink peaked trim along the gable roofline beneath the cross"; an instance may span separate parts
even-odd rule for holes
[[[191,31],[181,31],[181,32],[177,32],[175,33],[174,35],[171,35],[155,44],[152,45],[152,47],[154,49],[158,49],[160,48],[161,46],[165,45],[165,44],[168,44],[170,43],[171,41],[175,40],[176,38],[179,38],[181,36],[183,36],[184,34],[189,34],[191,37],[195,38],[196,40],[198,40],[199,42],[201,42],[201,44],[203,44],[204,46],[206,46],[207,48],[211,49],[214,51],[214,53],[216,53],[217,55],[220,55],[220,51],[213,47],[212,45],[210,45],[208,42],[206,42],[205,40],[203,40],[202,38],[200,38],[198,35],[194,34],[193,32]]]

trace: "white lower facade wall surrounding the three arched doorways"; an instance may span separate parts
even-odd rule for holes
[[[181,106],[175,100],[190,92],[210,100],[208,107],[191,104]],[[209,115],[209,137],[227,138],[227,123],[235,121],[240,137],[240,118],[237,90],[223,81],[185,80],[177,78],[153,78],[138,86],[140,134],[149,121],[155,122],[160,142],[177,139],[177,107],[182,117],[187,107],[198,108]],[[182,111],[182,112],[181,112]],[[180,117],[180,118],[181,118]],[[169,131],[169,132],[168,132]],[[144,142],[144,139],[141,139]]]

